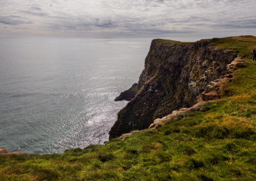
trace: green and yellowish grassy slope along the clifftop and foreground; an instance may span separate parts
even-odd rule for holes
[[[220,101],[205,105],[211,108],[207,112],[189,113],[157,131],[145,129],[105,146],[45,156],[0,156],[0,180],[254,180],[256,64],[246,59],[252,42],[211,41],[239,50],[246,68],[236,69]]]

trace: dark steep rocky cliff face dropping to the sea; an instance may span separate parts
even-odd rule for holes
[[[118,113],[109,138],[145,129],[154,119],[194,105],[205,97],[210,82],[227,73],[227,64],[235,57],[235,52],[218,50],[209,41],[166,45],[153,40],[140,80],[129,89],[131,101]],[[117,100],[124,98],[125,94]]]

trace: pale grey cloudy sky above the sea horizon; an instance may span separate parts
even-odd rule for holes
[[[252,0],[0,0],[0,36],[256,36]]]

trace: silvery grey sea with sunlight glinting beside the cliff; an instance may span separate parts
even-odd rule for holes
[[[108,140],[118,94],[138,82],[147,39],[0,40],[0,147],[36,154]]]

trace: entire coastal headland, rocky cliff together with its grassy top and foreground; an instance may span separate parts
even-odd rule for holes
[[[255,45],[152,40],[138,83],[116,99],[129,103],[106,145],[0,154],[0,180],[255,179]]]

